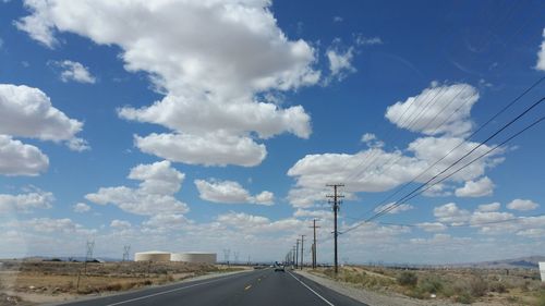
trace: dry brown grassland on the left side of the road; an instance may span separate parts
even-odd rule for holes
[[[63,296],[99,294],[158,285],[237,267],[187,262],[71,262],[2,260],[0,306],[58,301]],[[45,298],[45,297],[57,298]],[[44,298],[45,299],[44,299]]]

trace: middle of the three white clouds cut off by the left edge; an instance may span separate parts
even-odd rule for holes
[[[48,167],[49,158],[37,147],[0,135],[0,174],[34,176]]]

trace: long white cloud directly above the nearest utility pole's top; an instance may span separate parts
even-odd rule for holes
[[[288,170],[288,175],[296,179],[295,187],[290,191],[288,198],[296,207],[311,207],[314,201],[324,199],[325,185],[330,182],[344,182],[344,189],[351,193],[389,191],[410,182],[458,145],[460,147],[456,151],[416,180],[424,183],[473,149],[477,143],[446,136],[422,137],[409,144],[405,150],[408,155],[399,150],[389,152],[379,147],[371,147],[354,155],[307,155]],[[472,160],[489,149],[491,147],[484,145],[470,154],[465,160]],[[464,182],[482,176],[487,168],[500,161],[494,155],[499,152],[496,150],[475,161],[445,183]],[[453,167],[439,178],[449,175],[457,169],[458,167]]]

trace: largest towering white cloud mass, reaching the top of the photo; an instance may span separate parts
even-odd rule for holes
[[[119,46],[128,71],[149,73],[165,98],[149,107],[119,110],[121,118],[172,131],[136,137],[145,152],[187,163],[255,166],[266,156],[255,137],[311,133],[302,107],[280,109],[258,99],[320,78],[312,68],[314,49],[286,37],[270,1],[57,0],[25,5],[32,14],[16,25],[44,45],[56,47],[57,32],[75,33]],[[210,145],[222,136],[218,146]],[[175,142],[180,138],[181,145]],[[190,140],[201,145],[193,147]],[[205,157],[197,158],[201,155]]]

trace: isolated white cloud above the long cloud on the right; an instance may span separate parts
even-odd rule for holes
[[[432,84],[417,96],[388,107],[386,118],[412,132],[463,136],[473,126],[470,112],[477,100],[479,91],[469,84]]]

